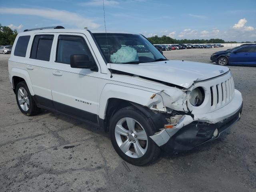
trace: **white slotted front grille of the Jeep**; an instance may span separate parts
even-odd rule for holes
[[[211,86],[210,92],[212,110],[230,102],[234,96],[234,81],[232,76],[224,82]]]

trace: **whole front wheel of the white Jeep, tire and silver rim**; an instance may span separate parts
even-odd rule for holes
[[[134,107],[119,110],[110,121],[114,149],[122,159],[136,166],[149,164],[160,154],[160,148],[149,137],[155,132],[152,121]]]

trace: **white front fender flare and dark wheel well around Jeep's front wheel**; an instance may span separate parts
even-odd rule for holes
[[[162,111],[160,113],[153,112],[153,110],[156,110],[152,109],[154,105],[158,106],[158,111]],[[158,128],[162,128],[166,116],[170,115],[165,111],[166,108],[163,106],[161,95],[115,84],[106,84],[100,96],[99,106],[99,124],[106,132],[109,131],[109,123],[112,116],[118,110],[127,106],[134,106],[146,118],[152,118]]]

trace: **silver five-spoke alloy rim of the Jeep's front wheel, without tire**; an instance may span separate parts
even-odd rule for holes
[[[120,119],[115,127],[119,148],[129,157],[140,158],[148,149],[148,137],[142,125],[133,118]]]

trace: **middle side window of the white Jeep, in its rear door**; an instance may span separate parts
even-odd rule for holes
[[[31,59],[50,61],[54,35],[36,35],[31,48]]]

